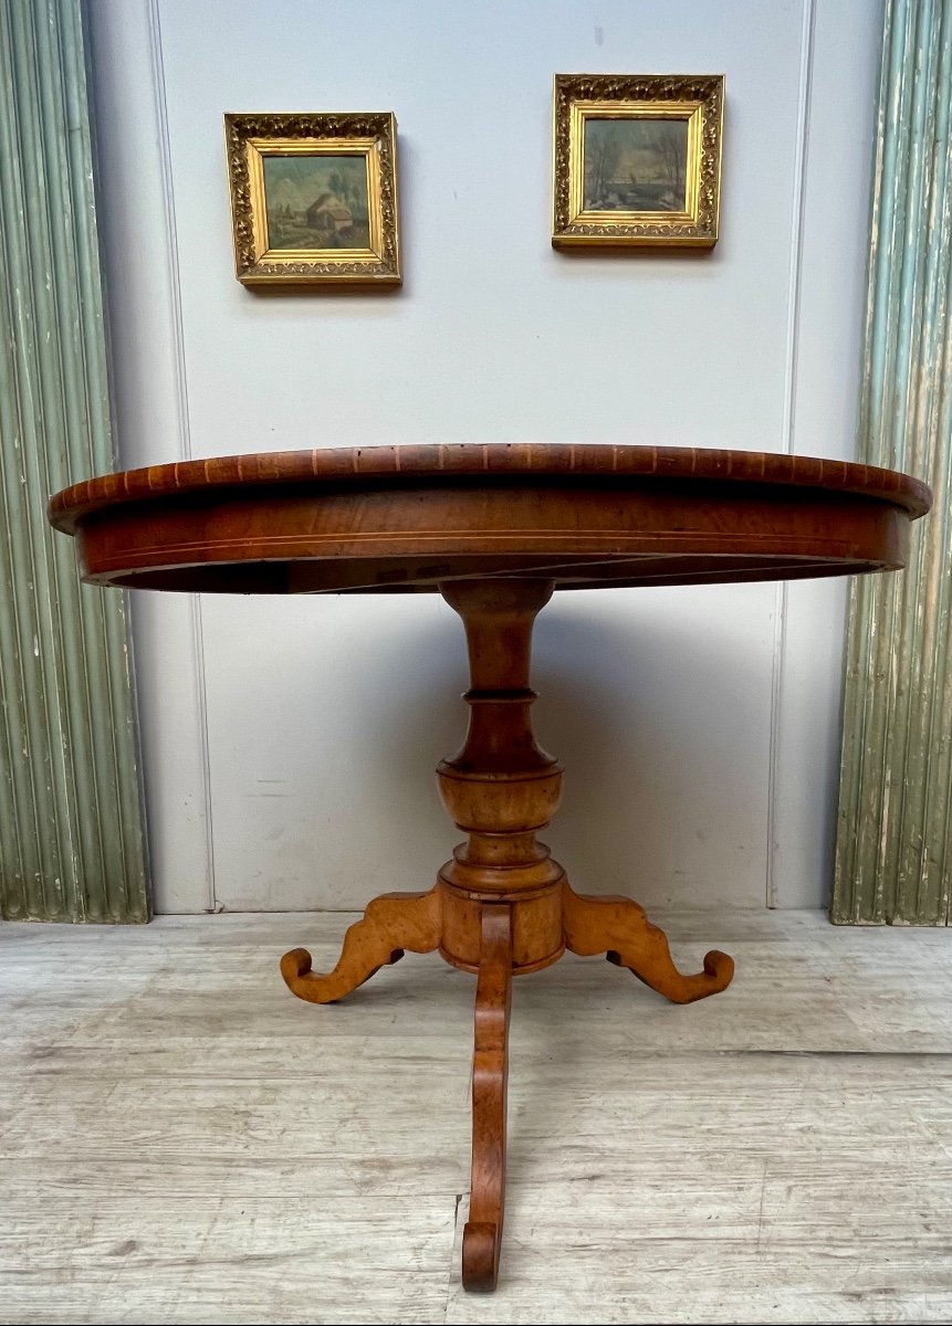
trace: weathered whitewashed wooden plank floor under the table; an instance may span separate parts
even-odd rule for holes
[[[947,1322],[952,931],[658,916],[676,1008],[597,959],[516,981],[506,1238],[465,1296],[475,983],[346,1002],[341,914],[0,927],[0,1322]]]

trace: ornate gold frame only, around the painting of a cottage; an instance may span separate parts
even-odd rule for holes
[[[396,121],[370,114],[225,115],[235,233],[235,276],[243,285],[399,285]],[[365,155],[370,245],[272,249],[264,198],[264,156]]]

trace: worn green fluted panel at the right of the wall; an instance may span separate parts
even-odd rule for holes
[[[952,876],[952,0],[887,0],[859,459],[935,493],[854,581],[831,918],[941,926]]]

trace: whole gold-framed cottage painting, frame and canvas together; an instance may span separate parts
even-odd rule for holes
[[[399,285],[390,111],[228,114],[235,274],[243,285]]]

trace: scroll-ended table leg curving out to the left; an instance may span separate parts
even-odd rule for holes
[[[333,972],[312,971],[306,948],[292,948],[281,959],[281,976],[292,993],[309,1004],[333,1004],[404,949],[430,953],[440,943],[440,900],[435,888],[427,894],[382,894],[363,918],[343,936],[343,949]]]

